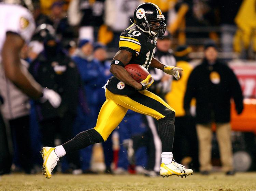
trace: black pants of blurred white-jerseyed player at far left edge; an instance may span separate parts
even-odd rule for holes
[[[0,113],[0,175],[10,173],[12,165],[12,149],[8,143],[11,137]]]

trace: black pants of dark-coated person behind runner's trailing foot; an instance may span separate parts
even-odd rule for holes
[[[65,114],[63,117],[56,117],[40,122],[42,143],[44,146],[55,147],[54,139],[60,136],[61,144],[74,137],[73,124],[74,115]],[[77,151],[67,154],[66,159],[73,169],[80,168],[79,154]]]

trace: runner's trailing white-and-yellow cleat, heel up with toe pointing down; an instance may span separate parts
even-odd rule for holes
[[[42,158],[43,158],[43,174],[45,178],[51,178],[52,177],[52,171],[54,167],[57,165],[57,162],[59,161],[59,158],[57,157],[56,153],[54,152],[55,148],[45,146],[40,151]]]

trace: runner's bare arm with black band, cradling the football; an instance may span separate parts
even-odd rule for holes
[[[126,50],[119,50],[114,56],[113,60],[119,60],[119,65],[112,64],[110,72],[120,81],[134,87],[137,90],[142,89],[142,85],[134,80],[131,75],[125,70],[125,66],[130,62],[132,53]],[[122,63],[122,64],[120,64]]]

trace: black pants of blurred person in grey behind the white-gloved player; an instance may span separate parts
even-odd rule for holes
[[[18,162],[26,173],[30,173],[32,165],[32,149],[30,140],[29,115],[9,120],[13,143],[15,143]]]

